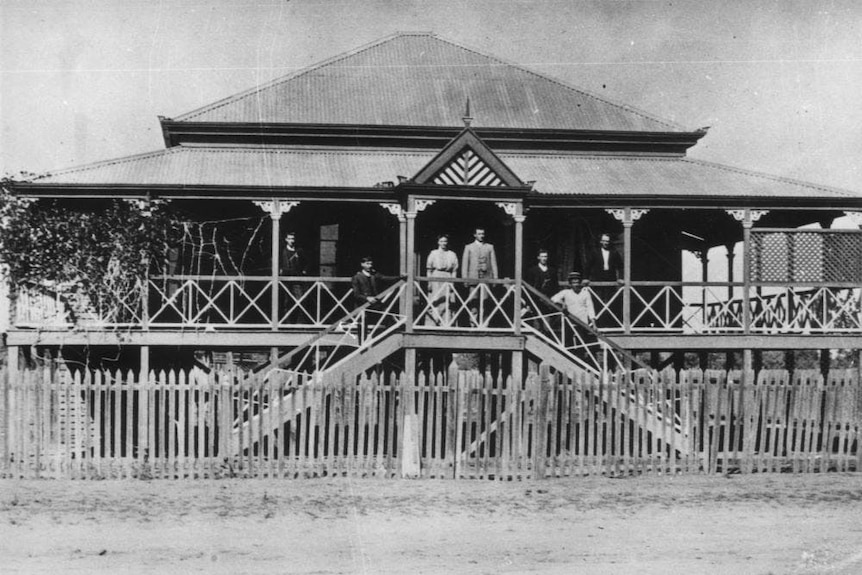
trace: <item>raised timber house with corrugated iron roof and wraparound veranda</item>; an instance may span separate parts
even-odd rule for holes
[[[858,366],[862,232],[832,223],[862,225],[862,195],[692,159],[705,129],[434,34],[395,34],[159,121],[164,149],[8,184],[24,210],[121,205],[171,230],[122,293],[10,278],[13,377],[45,357],[309,382],[392,371],[415,383],[456,363],[508,381],[538,365],[598,381],[647,367],[757,373],[767,360],[792,370],[812,354],[823,372]],[[429,262],[441,236],[448,250]],[[465,251],[477,236],[486,245]],[[371,300],[353,277],[366,257]],[[551,301],[571,272],[587,316]],[[287,422],[281,397],[250,400],[246,423]],[[619,428],[622,453],[626,432],[653,434],[647,420],[673,409],[636,392],[590,397],[593,412],[643,410]],[[465,427],[467,442],[500,436],[496,421]]]

